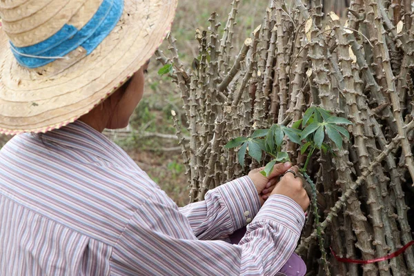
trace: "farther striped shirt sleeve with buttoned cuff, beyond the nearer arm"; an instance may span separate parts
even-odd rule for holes
[[[250,177],[241,177],[206,193],[204,201],[179,208],[198,239],[217,239],[246,226],[260,209]]]

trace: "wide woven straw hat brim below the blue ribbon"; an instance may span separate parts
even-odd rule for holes
[[[177,0],[125,0],[114,30],[90,54],[20,66],[0,31],[0,133],[46,132],[90,112],[146,63],[170,31]]]

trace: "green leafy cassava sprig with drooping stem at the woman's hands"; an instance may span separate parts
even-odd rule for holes
[[[299,129],[301,124],[303,130]],[[323,108],[311,107],[304,113],[304,118],[296,121],[292,125],[292,128],[273,124],[269,129],[255,130],[253,135],[248,138],[237,137],[232,139],[224,146],[225,148],[237,148],[240,146],[237,156],[241,166],[244,166],[247,149],[248,155],[259,163],[262,161],[263,153],[264,155],[268,155],[270,161],[266,164],[264,170],[261,171],[262,175],[266,177],[272,173],[275,164],[290,161],[288,153],[282,151],[282,146],[284,141],[286,142],[286,139],[300,146],[300,152],[302,155],[306,155],[306,161],[304,167],[299,169],[299,172],[302,173],[307,183],[311,186],[310,196],[312,199],[313,215],[315,216],[319,249],[322,253],[321,260],[324,266],[327,265],[327,262],[324,238],[322,237],[322,230],[319,224],[317,188],[306,172],[306,168],[315,150],[322,150],[324,154],[333,152],[331,147],[324,143],[326,141],[325,135],[327,135],[331,143],[335,144],[339,150],[342,150],[342,139],[343,137],[349,139],[349,132],[342,126],[339,126],[340,124],[349,125],[352,123],[342,117],[331,115]]]

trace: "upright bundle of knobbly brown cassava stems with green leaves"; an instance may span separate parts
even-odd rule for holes
[[[315,182],[297,248],[309,275],[414,275],[411,2],[351,0],[340,18],[333,1],[271,0],[235,49],[233,0],[224,28],[213,13],[196,30],[188,65],[170,34],[157,59],[184,103],[190,201],[290,159]]]

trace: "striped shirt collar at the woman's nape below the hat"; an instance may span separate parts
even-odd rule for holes
[[[137,164],[117,144],[83,121],[78,120],[68,126],[46,132],[43,138],[54,144],[95,155],[116,166],[138,168]]]

